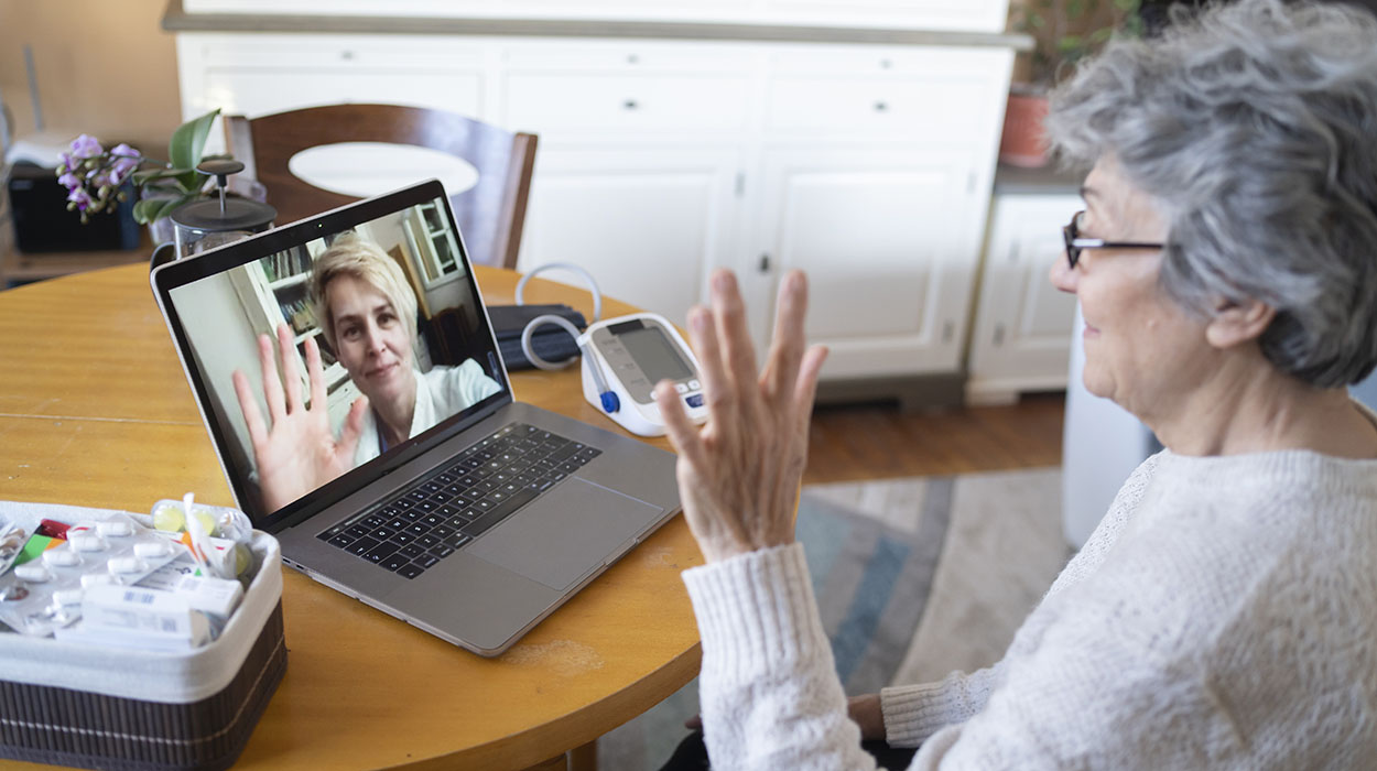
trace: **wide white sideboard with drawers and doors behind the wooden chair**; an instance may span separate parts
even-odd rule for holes
[[[877,25],[884,8],[1005,8],[865,6]],[[605,292],[682,324],[712,268],[730,267],[763,346],[778,279],[799,267],[812,277],[810,337],[832,347],[825,380],[961,370],[1016,36],[777,40],[759,32],[774,28],[717,23],[708,32],[730,34],[694,39],[644,23],[664,36],[611,39],[540,34],[536,22],[530,34],[446,32],[468,29],[457,22],[430,34],[218,32],[194,17],[164,19],[186,117],[380,101],[534,132],[519,268],[580,264]],[[742,39],[750,30],[767,39]],[[840,39],[814,40],[829,34]],[[333,165],[348,176],[348,158]]]

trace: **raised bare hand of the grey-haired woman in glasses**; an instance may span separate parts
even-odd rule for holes
[[[702,369],[708,423],[698,430],[671,383],[655,387],[684,516],[708,562],[789,544],[818,370],[828,351],[807,347],[808,282],[790,271],[779,285],[774,340],[764,369],[746,329],[737,278],[712,275],[712,310],[688,313],[688,336]]]

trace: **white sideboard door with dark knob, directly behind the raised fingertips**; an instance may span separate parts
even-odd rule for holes
[[[983,207],[965,150],[767,149],[756,271],[757,343],[788,268],[812,288],[808,337],[825,379],[953,372],[960,363]]]

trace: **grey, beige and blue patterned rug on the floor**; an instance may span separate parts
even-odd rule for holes
[[[1048,468],[804,487],[797,537],[848,694],[1002,654],[1070,555],[1060,478]],[[658,768],[697,712],[695,680],[599,739],[599,768]]]

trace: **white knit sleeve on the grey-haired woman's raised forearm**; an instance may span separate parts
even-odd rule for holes
[[[874,768],[847,717],[801,545],[683,580],[702,636],[698,698],[715,771]]]

